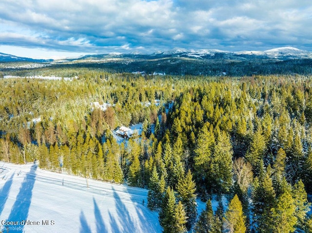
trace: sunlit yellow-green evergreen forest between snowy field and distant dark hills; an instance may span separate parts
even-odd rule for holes
[[[312,233],[311,76],[60,69],[78,78],[0,78],[1,161],[148,188],[164,233]]]

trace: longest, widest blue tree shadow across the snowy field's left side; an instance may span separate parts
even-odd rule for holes
[[[9,232],[16,232],[16,233],[22,233],[24,230],[24,226],[20,225],[20,222],[22,220],[27,220],[29,207],[31,204],[31,198],[33,196],[33,188],[36,180],[36,170],[37,165],[34,164],[30,171],[26,174],[21,186],[18,196],[16,197],[16,200],[13,204],[13,207],[11,209],[11,213],[7,219],[7,221],[18,221],[19,224],[15,225],[14,231]],[[12,226],[4,226],[4,227],[10,227]]]

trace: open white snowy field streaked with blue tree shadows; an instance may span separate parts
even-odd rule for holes
[[[13,233],[160,233],[147,190],[0,162],[0,229]],[[144,204],[143,204],[144,200]],[[24,221],[23,221],[24,220]],[[5,230],[5,225],[8,229]]]

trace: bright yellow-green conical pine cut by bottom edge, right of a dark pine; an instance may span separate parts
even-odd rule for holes
[[[224,215],[225,229],[230,233],[245,233],[245,219],[246,216],[243,214],[242,203],[235,194]]]

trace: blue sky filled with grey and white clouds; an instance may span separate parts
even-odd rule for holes
[[[0,53],[312,51],[311,0],[1,0]]]

